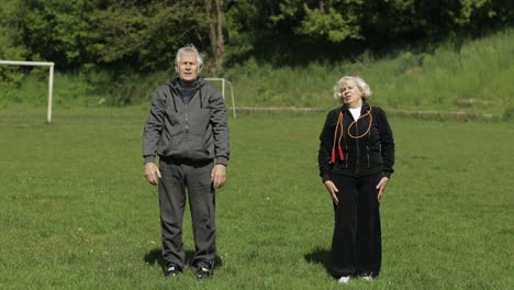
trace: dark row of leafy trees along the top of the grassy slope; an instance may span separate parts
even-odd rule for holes
[[[472,36],[513,15],[511,0],[4,0],[0,58],[145,72],[193,43],[215,71],[250,57],[301,64]]]

